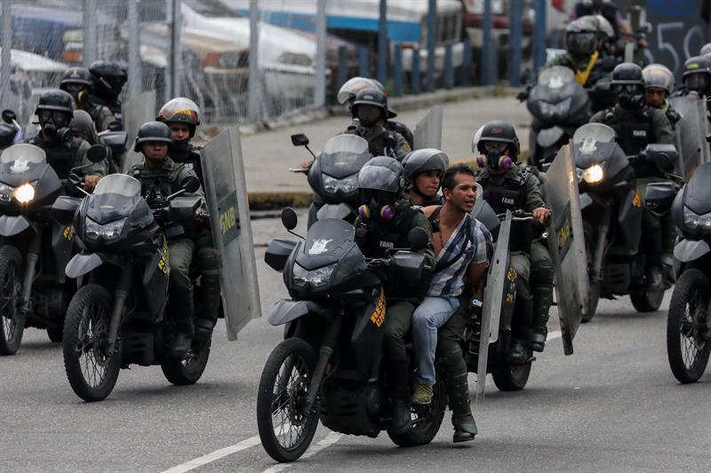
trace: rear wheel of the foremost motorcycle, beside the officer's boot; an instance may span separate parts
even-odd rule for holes
[[[411,427],[401,434],[387,430],[387,436],[399,446],[425,445],[432,441],[442,425],[444,411],[447,408],[447,390],[444,380],[437,377],[432,402],[429,406],[412,408]]]

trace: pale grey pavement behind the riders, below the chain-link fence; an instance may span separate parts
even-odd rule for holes
[[[414,128],[428,109],[403,112],[396,120]],[[475,131],[485,122],[507,120],[515,124],[525,146],[528,143],[530,117],[525,105],[513,97],[469,99],[443,104],[443,151],[452,161],[469,159]],[[288,126],[242,137],[247,191],[250,193],[310,192],[306,177],[289,168],[311,159],[304,148],[292,146],[291,136],[305,133],[311,149],[318,153],[329,140],[348,126],[346,116],[333,116],[316,122]]]

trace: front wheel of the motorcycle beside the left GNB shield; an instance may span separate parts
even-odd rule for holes
[[[116,385],[121,367],[118,348],[108,351],[111,297],[96,284],[72,297],[64,322],[64,368],[72,390],[85,401],[106,398]]]

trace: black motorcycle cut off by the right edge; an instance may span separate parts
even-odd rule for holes
[[[659,213],[671,207],[679,237],[677,280],[667,314],[667,356],[679,382],[696,382],[711,353],[711,163],[701,164],[681,192],[673,183],[650,185],[645,198]]]

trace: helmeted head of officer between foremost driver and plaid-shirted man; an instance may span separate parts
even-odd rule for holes
[[[405,190],[412,205],[442,205],[442,197],[437,193],[448,164],[447,155],[434,148],[418,149],[404,157]]]

